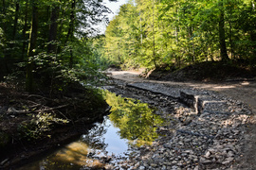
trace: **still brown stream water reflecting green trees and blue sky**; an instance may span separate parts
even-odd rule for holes
[[[158,137],[155,126],[163,120],[147,104],[115,93],[105,93],[105,97],[112,108],[101,123],[79,140],[19,170],[102,169],[109,161],[127,159],[135,146],[151,144]]]

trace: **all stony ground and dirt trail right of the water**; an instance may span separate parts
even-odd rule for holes
[[[161,101],[159,114],[169,124],[158,127],[164,136],[153,145],[138,148],[130,160],[109,169],[255,169],[255,82],[154,81],[135,72],[110,76],[125,81],[120,94],[154,93],[148,100]],[[185,105],[167,105],[174,101]]]

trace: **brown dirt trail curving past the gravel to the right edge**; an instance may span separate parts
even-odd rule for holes
[[[252,111],[251,125],[248,125],[247,144],[245,148],[244,162],[249,169],[256,169],[256,82],[255,81],[230,81],[221,83],[204,82],[174,82],[157,81],[139,77],[140,72],[135,71],[112,71],[109,75],[113,78],[125,80],[128,83],[154,82],[174,86],[205,89],[214,91],[230,97],[233,100],[241,101]],[[243,166],[242,166],[243,167]],[[247,169],[247,168],[246,168]]]

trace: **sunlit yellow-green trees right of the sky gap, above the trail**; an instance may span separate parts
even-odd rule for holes
[[[253,65],[255,16],[254,1],[136,0],[136,6],[123,5],[107,27],[105,58],[129,66],[183,67],[227,53]]]

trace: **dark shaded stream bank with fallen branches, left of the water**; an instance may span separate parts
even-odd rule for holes
[[[0,169],[68,144],[108,114],[101,92],[76,83],[61,93],[26,93],[0,83]]]

